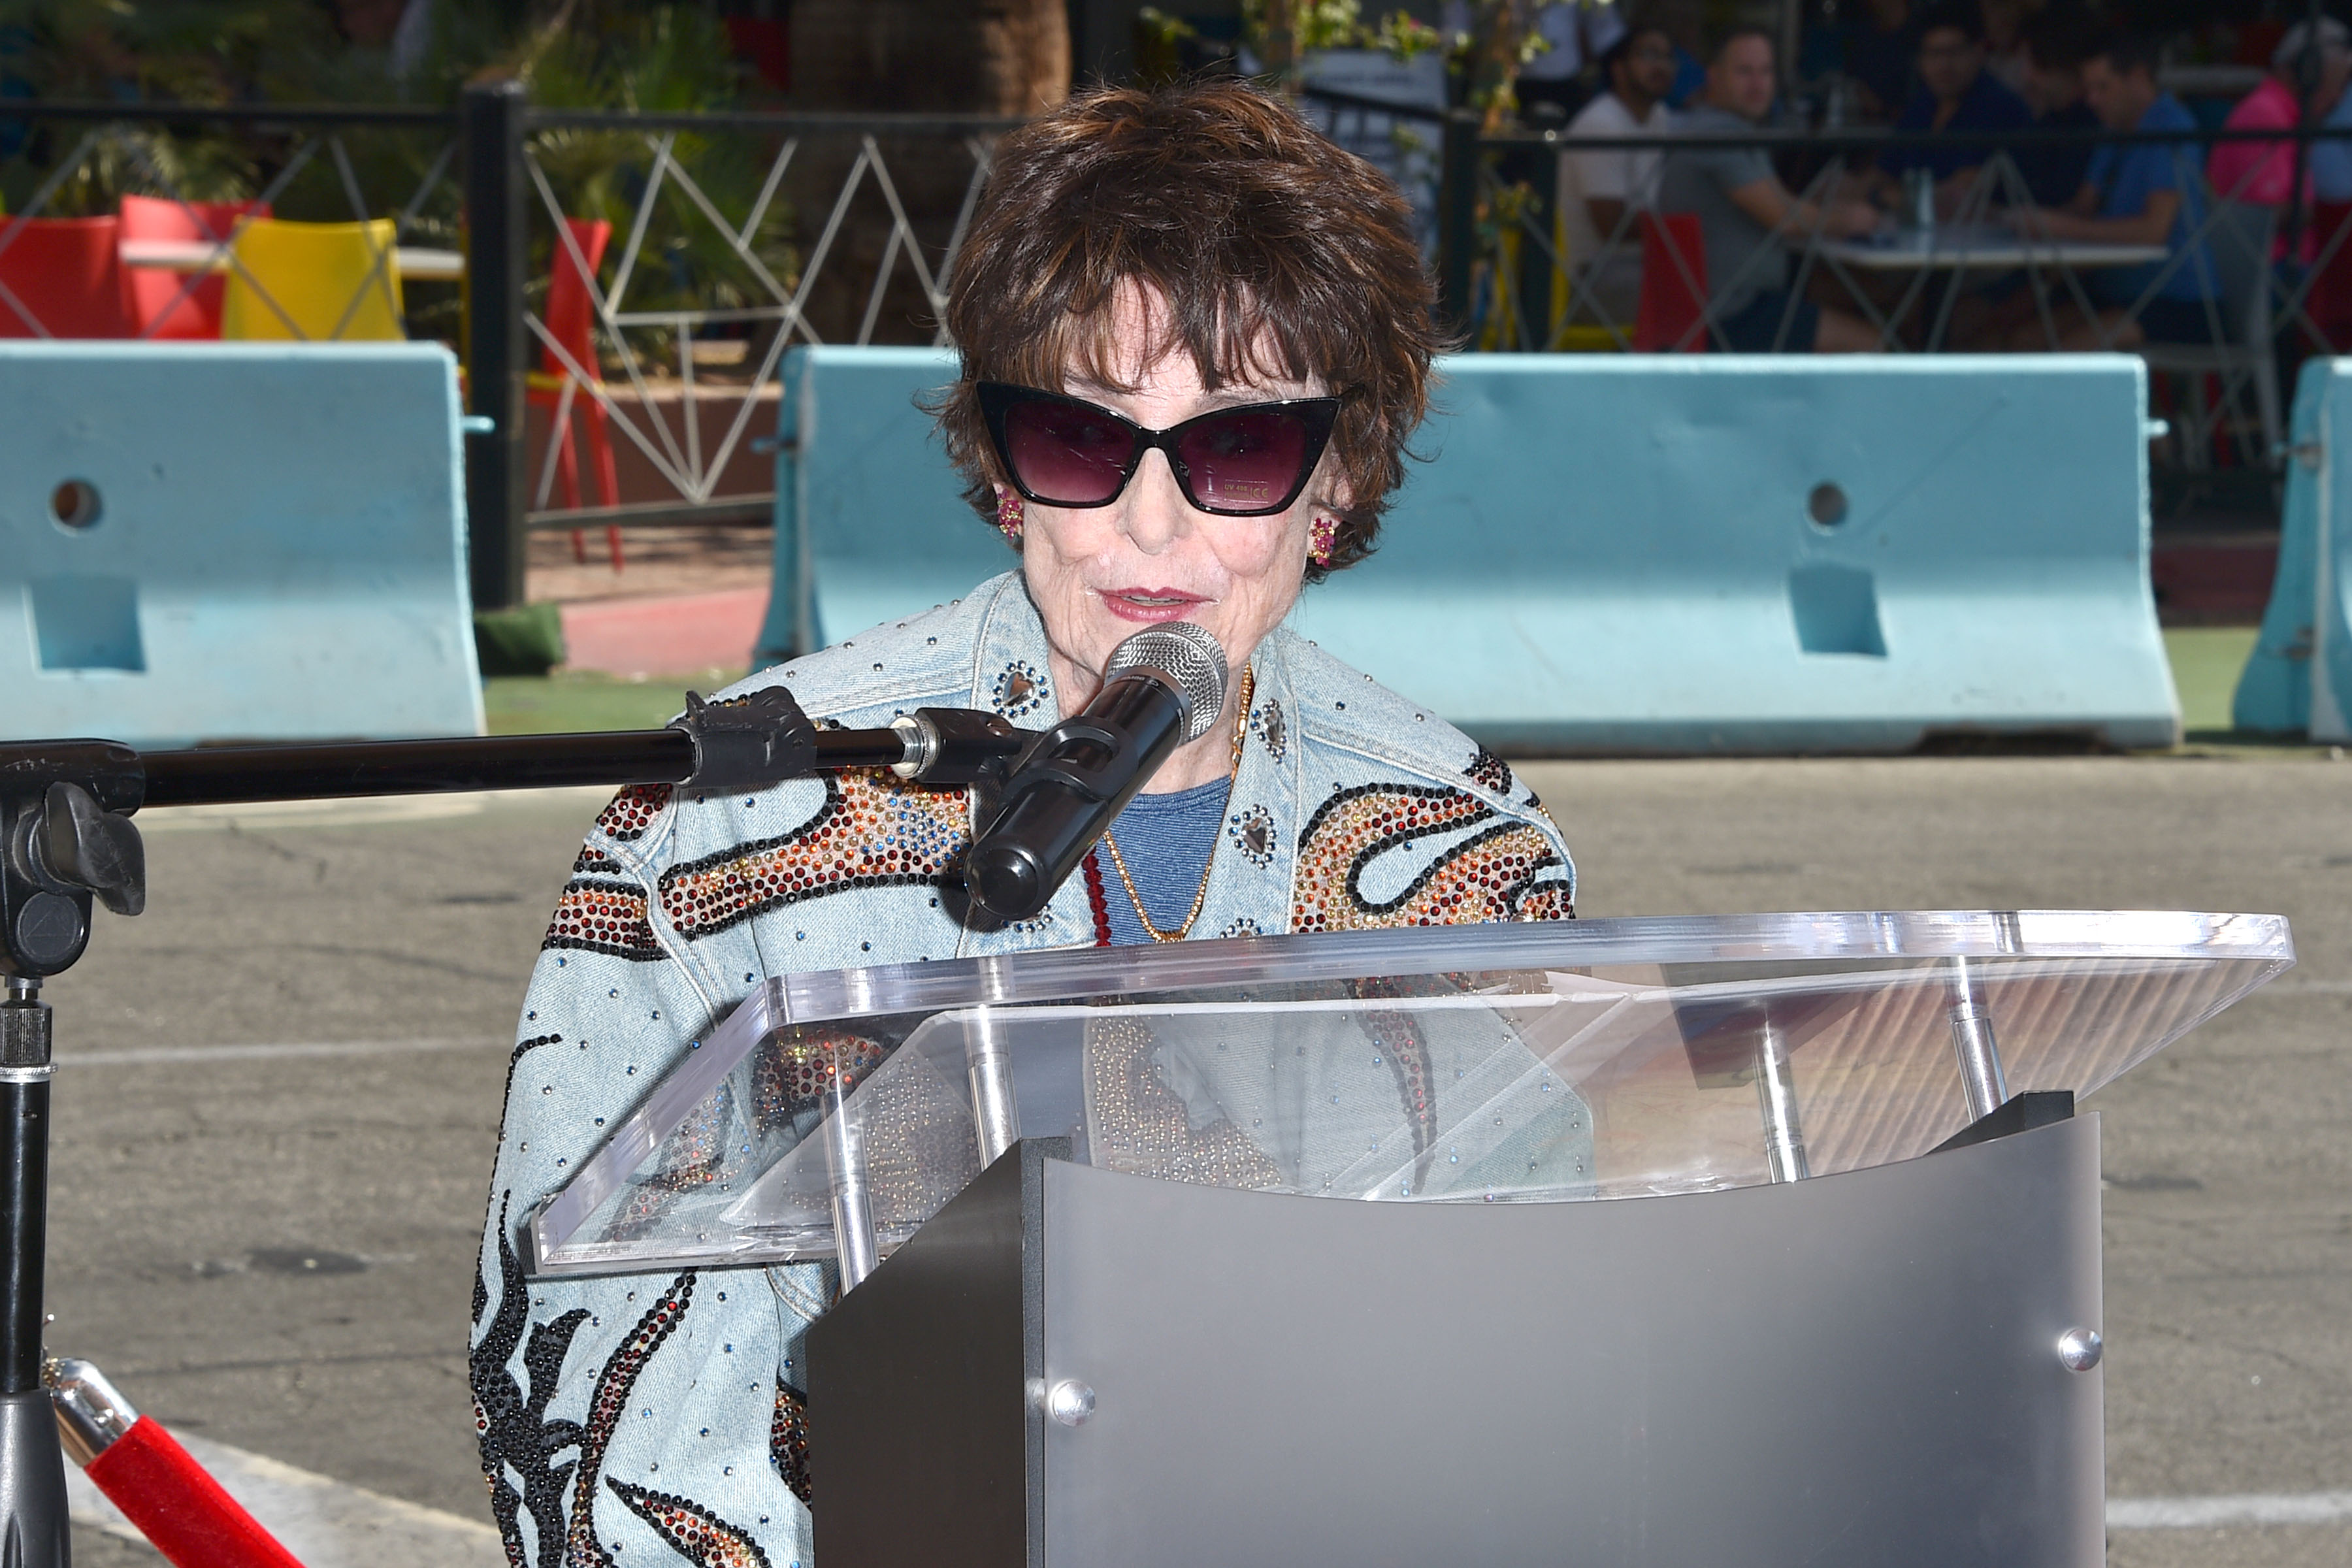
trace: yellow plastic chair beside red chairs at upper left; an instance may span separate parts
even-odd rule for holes
[[[289,223],[238,230],[238,266],[221,301],[223,339],[362,343],[405,339],[393,221]],[[376,259],[383,266],[376,266]]]

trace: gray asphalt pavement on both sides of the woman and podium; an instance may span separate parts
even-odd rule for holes
[[[2199,907],[2303,961],[2105,1114],[2112,1497],[2352,1490],[2352,764],[1526,764],[1585,914]],[[148,813],[56,1004],[52,1347],[167,1425],[482,1519],[466,1321],[515,1009],[581,792]],[[85,1563],[141,1552],[78,1537]],[[146,1561],[153,1561],[148,1556]],[[2110,1561],[2352,1561],[2352,1523]]]

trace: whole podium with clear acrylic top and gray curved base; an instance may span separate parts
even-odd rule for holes
[[[786,976],[532,1267],[840,1260],[823,1568],[2089,1568],[2072,1103],[2291,961],[2030,910]]]

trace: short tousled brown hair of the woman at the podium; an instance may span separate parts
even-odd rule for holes
[[[1388,179],[1230,80],[1084,92],[997,143],[948,292],[964,374],[936,409],[974,510],[995,515],[1004,475],[971,386],[1063,390],[1073,367],[1120,386],[1110,310],[1129,282],[1167,301],[1164,348],[1202,386],[1319,376],[1341,397],[1331,569],[1371,555],[1430,402],[1430,275]]]

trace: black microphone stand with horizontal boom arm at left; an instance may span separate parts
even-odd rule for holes
[[[66,1458],[42,1387],[49,1213],[49,1004],[89,945],[92,903],[146,907],[141,806],[673,783],[762,790],[842,769],[983,790],[1030,731],[920,708],[889,729],[818,729],[783,686],[706,703],[668,729],[134,752],[113,741],[0,743],[0,1542],[12,1568],[66,1568]]]

